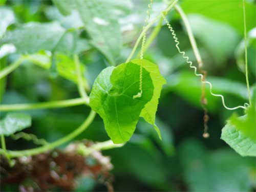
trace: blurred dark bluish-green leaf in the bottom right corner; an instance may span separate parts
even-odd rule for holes
[[[249,191],[251,188],[247,159],[230,150],[209,153],[200,142],[186,140],[180,146],[180,156],[189,191]]]

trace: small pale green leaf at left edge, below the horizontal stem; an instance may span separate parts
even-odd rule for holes
[[[8,113],[7,116],[0,121],[0,135],[9,136],[29,126],[31,126],[30,115],[23,113]]]

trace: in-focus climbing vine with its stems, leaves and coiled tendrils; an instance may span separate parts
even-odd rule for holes
[[[58,0],[53,2],[63,15],[71,14],[69,6],[65,5],[67,2],[65,3]],[[161,129],[159,129],[157,126],[155,119],[159,102],[158,100],[160,98],[162,86],[166,84],[166,80],[160,74],[158,66],[144,58],[144,53],[147,51],[148,47],[150,47],[153,40],[158,35],[158,32],[162,27],[162,22],[164,22],[168,27],[170,31],[169,34],[174,39],[175,46],[178,52],[185,59],[188,67],[194,70],[195,76],[200,77],[202,83],[201,103],[204,110],[203,136],[205,138],[209,137],[207,126],[209,116],[207,113],[207,100],[205,98],[205,88],[206,86],[209,86],[210,94],[215,97],[220,97],[222,100],[222,106],[225,109],[243,109],[245,111],[245,114],[242,117],[233,115],[230,118],[223,129],[222,139],[242,156],[256,156],[256,139],[252,137],[253,134],[255,135],[255,119],[253,118],[255,117],[255,99],[252,99],[250,96],[248,80],[245,0],[243,0],[245,73],[249,104],[245,103],[244,105],[239,106],[228,106],[226,104],[226,98],[224,98],[222,94],[215,92],[214,86],[212,86],[212,83],[207,80],[206,71],[203,69],[203,61],[200,55],[200,51],[197,47],[196,40],[190,26],[194,24],[189,24],[182,6],[178,5],[178,0],[170,1],[167,3],[166,8],[161,10],[161,12],[159,12],[158,15],[154,18],[151,16],[152,5],[154,5],[154,2],[152,0],[149,2],[142,32],[138,36],[134,47],[126,61],[116,67],[114,58],[116,55],[118,55],[118,53],[113,51],[112,43],[110,42],[110,38],[107,36],[108,33],[111,32],[104,31],[105,27],[108,25],[113,28],[116,27],[116,20],[114,20],[111,16],[106,18],[106,20],[102,19],[104,18],[102,15],[100,15],[102,17],[97,15],[93,17],[92,15],[95,14],[93,12],[82,14],[83,10],[90,11],[92,6],[98,7],[98,9],[104,7],[105,5],[101,3],[94,5],[96,3],[91,1],[75,1],[71,8],[75,7],[74,9],[77,9],[77,12],[81,15],[81,22],[83,23],[82,26],[63,29],[56,23],[44,25],[32,23],[31,25],[25,25],[16,31],[7,31],[6,34],[1,38],[1,45],[13,44],[15,49],[22,53],[22,56],[11,63],[11,65],[1,69],[0,79],[6,78],[7,75],[17,69],[20,65],[22,65],[22,63],[31,61],[42,68],[49,69],[49,72],[55,72],[58,75],[75,82],[77,84],[77,90],[80,95],[79,98],[68,100],[24,104],[1,104],[1,112],[66,108],[75,105],[86,105],[87,107],[91,108],[90,114],[86,120],[84,120],[83,123],[77,127],[77,129],[54,142],[48,142],[44,139],[37,138],[37,136],[33,134],[19,132],[31,126],[31,117],[26,116],[25,114],[8,113],[5,118],[0,120],[0,133],[2,143],[0,153],[5,155],[10,163],[15,163],[12,162],[12,158],[38,155],[40,153],[53,150],[54,148],[71,141],[84,130],[88,129],[90,124],[94,121],[96,113],[99,114],[99,116],[103,119],[105,130],[113,142],[111,140],[100,142],[91,146],[90,149],[83,145],[79,148],[80,151],[82,150],[83,155],[90,154],[92,150],[104,150],[106,144],[108,145],[107,148],[123,146],[123,144],[129,141],[133,136],[140,117],[144,118],[147,123],[152,125],[152,127],[156,130],[159,138],[161,139]],[[186,56],[186,53],[182,51],[179,46],[182,39],[177,38],[176,32],[172,27],[172,19],[169,21],[167,17],[171,10],[176,10],[184,23],[191,47],[198,62],[198,67],[193,65],[193,62],[190,61],[189,57]],[[90,20],[94,20],[94,23],[90,23]],[[150,36],[146,38],[147,33],[150,31],[151,27],[157,22],[158,25],[156,25]],[[50,34],[52,36],[49,35],[45,39],[51,41],[52,45],[46,46],[43,42],[38,42],[36,45],[30,45],[29,38],[31,38],[31,36],[26,36],[26,31],[30,30],[31,27],[33,27],[34,33],[38,35],[40,34],[41,30],[47,27],[53,27],[55,34]],[[80,38],[78,35],[81,33],[83,27],[87,30],[87,33],[91,37],[90,44],[87,44],[87,42],[85,42],[84,39]],[[16,38],[15,34],[19,34],[20,36]],[[69,36],[67,37],[67,35]],[[56,38],[56,36],[58,38]],[[63,39],[67,40],[66,38],[71,38],[73,40],[73,44],[65,48],[60,45]],[[118,38],[121,38],[121,34],[117,34],[116,40],[118,40]],[[26,45],[26,53],[23,53],[20,51],[20,49],[22,49],[20,41],[25,40],[28,41],[28,44]],[[140,41],[141,49],[139,52],[139,59],[132,59],[140,45]],[[116,45],[119,46],[119,43]],[[112,65],[103,69],[99,73],[93,83],[92,90],[90,90],[87,79],[82,73],[83,65],[81,65],[79,58],[79,49],[84,51],[87,50],[90,46],[94,46],[96,49],[98,49],[106,57],[110,65]],[[65,54],[61,53],[61,51],[65,51],[61,49],[64,49],[65,51],[68,50],[69,54],[72,55],[72,59],[67,59]],[[50,50],[50,53],[39,52],[41,50]],[[65,71],[63,70],[63,66],[65,66],[66,62],[69,63],[70,68],[65,69]],[[187,86],[189,86],[189,84],[187,84]],[[230,135],[239,135],[239,137],[236,140],[232,140]],[[11,151],[8,150],[8,145],[6,146],[5,143],[5,137],[7,136],[11,136],[13,139],[23,138],[26,140],[32,140],[35,144],[39,144],[41,146],[28,150]],[[242,140],[245,140],[246,142],[243,142]]]

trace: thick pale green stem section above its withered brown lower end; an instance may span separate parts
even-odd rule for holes
[[[183,23],[184,23],[185,28],[187,30],[187,34],[188,34],[188,38],[189,38],[190,44],[192,46],[193,52],[194,52],[194,54],[196,56],[196,59],[197,59],[197,62],[198,62],[198,67],[202,68],[203,67],[203,61],[202,61],[201,55],[199,53],[199,50],[198,50],[198,47],[197,47],[197,42],[196,42],[195,37],[193,35],[193,32],[191,30],[191,26],[190,26],[190,24],[188,22],[187,16],[186,16],[184,11],[182,10],[182,8],[178,4],[176,4],[174,6],[174,8],[180,14],[181,19],[183,20]]]

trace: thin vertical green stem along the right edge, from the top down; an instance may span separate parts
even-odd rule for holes
[[[245,51],[245,78],[248,92],[249,103],[251,105],[250,83],[248,77],[248,59],[247,59],[247,32],[246,32],[246,13],[245,13],[245,0],[243,0],[243,16],[244,16],[244,51]]]

